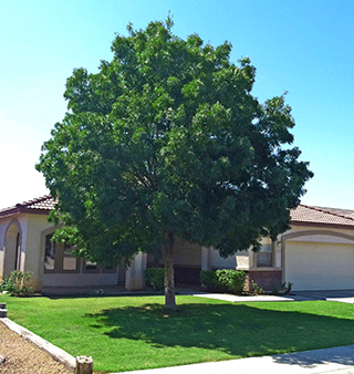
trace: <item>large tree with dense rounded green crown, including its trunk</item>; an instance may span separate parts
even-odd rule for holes
[[[128,25],[98,73],[73,71],[37,168],[59,201],[51,220],[65,225],[55,240],[98,263],[162,252],[165,305],[176,309],[175,238],[223,257],[257,250],[289,228],[312,173],[290,146],[284,96],[252,96],[250,60],[171,29],[169,18]]]

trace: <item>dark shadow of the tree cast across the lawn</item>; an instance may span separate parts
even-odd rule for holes
[[[219,351],[229,359],[354,343],[353,320],[246,304],[186,303],[171,314],[163,305],[152,303],[107,309],[85,318],[93,320],[92,328],[104,329],[103,334],[111,339],[144,341],[154,349]],[[354,364],[353,359],[350,364]]]

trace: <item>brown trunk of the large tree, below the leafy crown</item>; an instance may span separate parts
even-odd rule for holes
[[[165,308],[176,310],[175,298],[175,271],[174,271],[174,242],[175,235],[173,231],[166,233],[167,243],[163,247],[165,263]]]

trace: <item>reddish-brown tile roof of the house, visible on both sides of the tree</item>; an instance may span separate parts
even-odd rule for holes
[[[45,195],[33,200],[17,204],[13,207],[0,209],[0,218],[14,214],[27,212],[48,215],[54,209],[56,202],[51,195]],[[354,210],[312,207],[300,204],[290,212],[293,225],[329,225],[354,228]]]

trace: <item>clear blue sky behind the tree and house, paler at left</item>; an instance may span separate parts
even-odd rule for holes
[[[115,33],[168,11],[178,37],[228,40],[233,62],[250,56],[261,102],[289,92],[294,145],[315,174],[302,202],[354,209],[352,0],[0,0],[0,208],[48,193],[34,164],[64,116],[72,70],[97,72]]]

